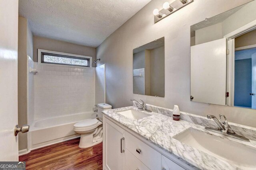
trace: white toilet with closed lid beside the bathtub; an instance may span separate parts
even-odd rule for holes
[[[81,134],[79,147],[88,148],[103,140],[103,110],[111,109],[112,106],[106,103],[97,104],[98,113],[95,119],[86,119],[74,124],[74,131]]]

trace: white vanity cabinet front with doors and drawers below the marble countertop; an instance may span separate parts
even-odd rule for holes
[[[163,155],[166,151],[105,116],[103,126],[104,170],[185,170],[182,166],[191,169],[183,162],[178,165]]]

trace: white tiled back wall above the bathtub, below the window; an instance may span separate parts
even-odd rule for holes
[[[92,112],[95,68],[34,64],[34,119]]]

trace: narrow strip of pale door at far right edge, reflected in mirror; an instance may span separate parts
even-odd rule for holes
[[[256,109],[256,53],[252,55],[252,109]]]

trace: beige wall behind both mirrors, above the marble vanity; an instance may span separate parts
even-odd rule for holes
[[[256,110],[208,105],[190,101],[190,25],[250,0],[194,0],[188,6],[154,24],[152,11],[166,0],[152,0],[97,47],[98,64],[106,63],[106,102],[113,108],[131,106],[131,98],[148,104],[206,116],[223,113],[228,121],[256,127]],[[133,94],[133,49],[164,37],[165,97]]]

